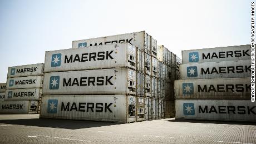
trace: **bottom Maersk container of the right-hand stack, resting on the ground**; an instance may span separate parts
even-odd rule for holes
[[[175,100],[177,119],[256,121],[256,103],[250,100]]]

